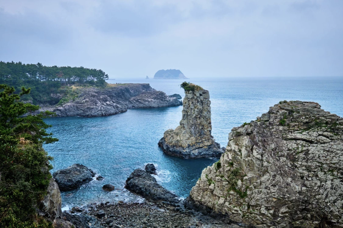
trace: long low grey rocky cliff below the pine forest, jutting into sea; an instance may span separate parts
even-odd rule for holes
[[[71,88],[70,95],[63,97],[55,106],[45,106],[57,116],[110,116],[131,108],[178,106],[182,102],[149,84],[112,84],[106,88]],[[61,96],[60,94],[58,94]],[[58,96],[56,95],[56,96]]]

